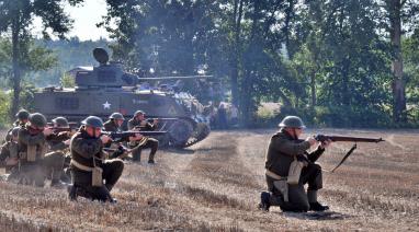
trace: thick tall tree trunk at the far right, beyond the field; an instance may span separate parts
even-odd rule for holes
[[[393,119],[395,123],[407,120],[406,115],[406,86],[403,79],[403,54],[401,54],[401,8],[400,0],[387,0],[390,22],[390,40],[394,58],[392,61],[393,72]]]

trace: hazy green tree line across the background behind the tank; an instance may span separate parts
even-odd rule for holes
[[[31,60],[25,54],[31,50],[26,44],[33,15],[43,19],[45,37],[64,36],[71,19],[58,0],[1,2],[0,32],[11,43],[12,54],[8,78],[16,93],[19,70],[27,66],[22,61]],[[230,90],[245,126],[254,121],[258,105],[268,101],[280,102],[282,113],[299,114],[313,124],[418,124],[419,3],[414,0],[106,0],[106,4],[107,14],[99,26],[111,35],[114,59],[143,76],[213,74]]]

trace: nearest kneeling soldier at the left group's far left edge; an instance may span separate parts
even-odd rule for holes
[[[46,137],[52,130],[46,126],[46,118],[39,113],[31,114],[26,125],[18,132],[19,166],[12,172],[19,183],[44,186],[45,179],[52,179],[50,186],[64,187],[59,181],[64,164],[63,152],[47,152]],[[10,179],[15,181],[15,179]]]

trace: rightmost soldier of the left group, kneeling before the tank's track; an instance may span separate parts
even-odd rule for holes
[[[129,130],[155,130],[157,128],[158,119],[154,119],[152,123],[146,120],[146,114],[143,111],[137,111],[134,114],[134,117],[128,120],[128,129]],[[150,154],[148,156],[148,163],[155,163],[155,154],[159,147],[159,141],[154,138],[143,137],[139,141],[131,142],[131,147],[133,149],[133,160],[140,161],[141,150],[143,149],[151,149]]]

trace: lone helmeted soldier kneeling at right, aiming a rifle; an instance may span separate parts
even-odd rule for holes
[[[308,153],[307,150],[318,142],[314,138],[299,140],[305,125],[297,116],[286,116],[280,131],[272,136],[268,147],[265,177],[268,192],[261,193],[259,207],[269,210],[270,206],[280,206],[283,211],[324,211],[329,209],[317,201],[317,190],[322,188],[321,167],[316,160],[331,142],[320,143]],[[304,185],[308,184],[307,193]]]

